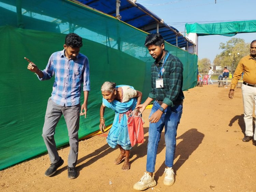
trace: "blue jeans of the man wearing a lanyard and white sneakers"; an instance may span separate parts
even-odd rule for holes
[[[150,116],[159,109],[160,105],[155,101],[150,113]],[[175,148],[176,148],[176,135],[177,128],[180,123],[183,105],[175,105],[168,107],[162,114],[157,123],[150,123],[148,130],[148,144],[147,144],[147,165],[146,171],[154,173],[156,164],[156,154],[158,143],[161,138],[161,132],[165,126],[165,165],[167,167],[173,166]]]

